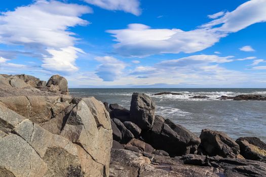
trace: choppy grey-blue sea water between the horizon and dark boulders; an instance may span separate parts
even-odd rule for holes
[[[176,92],[182,96],[151,96],[156,113],[200,135],[204,128],[226,132],[230,137],[258,137],[266,142],[266,101],[217,100],[217,97],[256,94],[266,96],[266,89],[70,89],[79,97],[94,96],[102,102],[130,108],[134,92],[152,95]],[[189,99],[208,96],[208,99]]]

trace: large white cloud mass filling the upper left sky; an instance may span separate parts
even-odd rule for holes
[[[41,54],[44,56],[42,66],[46,69],[62,71],[64,68],[64,71],[75,71],[77,55],[73,52],[80,50],[73,50],[74,42],[78,39],[68,28],[87,25],[89,22],[80,18],[86,13],[92,13],[86,6],[58,1],[35,1],[32,5],[2,13],[0,43],[24,46],[26,51],[34,52],[34,55]]]

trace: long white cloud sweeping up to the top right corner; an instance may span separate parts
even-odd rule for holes
[[[145,57],[155,54],[194,53],[213,46],[220,38],[249,25],[266,21],[266,1],[252,0],[233,12],[200,28],[153,29],[144,24],[130,24],[126,29],[107,30],[118,42],[115,51],[124,56]],[[218,26],[218,27],[217,27]]]

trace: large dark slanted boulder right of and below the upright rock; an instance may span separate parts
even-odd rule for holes
[[[143,140],[155,149],[164,150],[170,156],[196,153],[200,139],[181,125],[162,116],[155,116],[154,126],[141,134]]]

